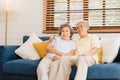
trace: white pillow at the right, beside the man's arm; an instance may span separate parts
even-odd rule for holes
[[[116,58],[120,46],[120,39],[102,39],[102,62],[111,63]]]

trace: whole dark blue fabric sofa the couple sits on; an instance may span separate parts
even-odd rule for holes
[[[23,37],[25,42],[29,36]],[[48,40],[49,36],[39,37]],[[19,45],[0,46],[0,80],[37,80],[36,68],[40,60],[25,60],[15,54]],[[72,66],[70,80],[76,67]],[[82,73],[81,73],[82,74]],[[120,49],[113,63],[96,64],[88,69],[87,80],[120,80]]]

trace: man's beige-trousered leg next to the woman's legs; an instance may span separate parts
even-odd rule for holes
[[[71,65],[74,64],[74,61],[75,57],[73,56],[62,56],[55,80],[69,80]]]

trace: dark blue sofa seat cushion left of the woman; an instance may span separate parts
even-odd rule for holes
[[[36,76],[36,69],[40,60],[17,59],[3,64],[3,72]]]

